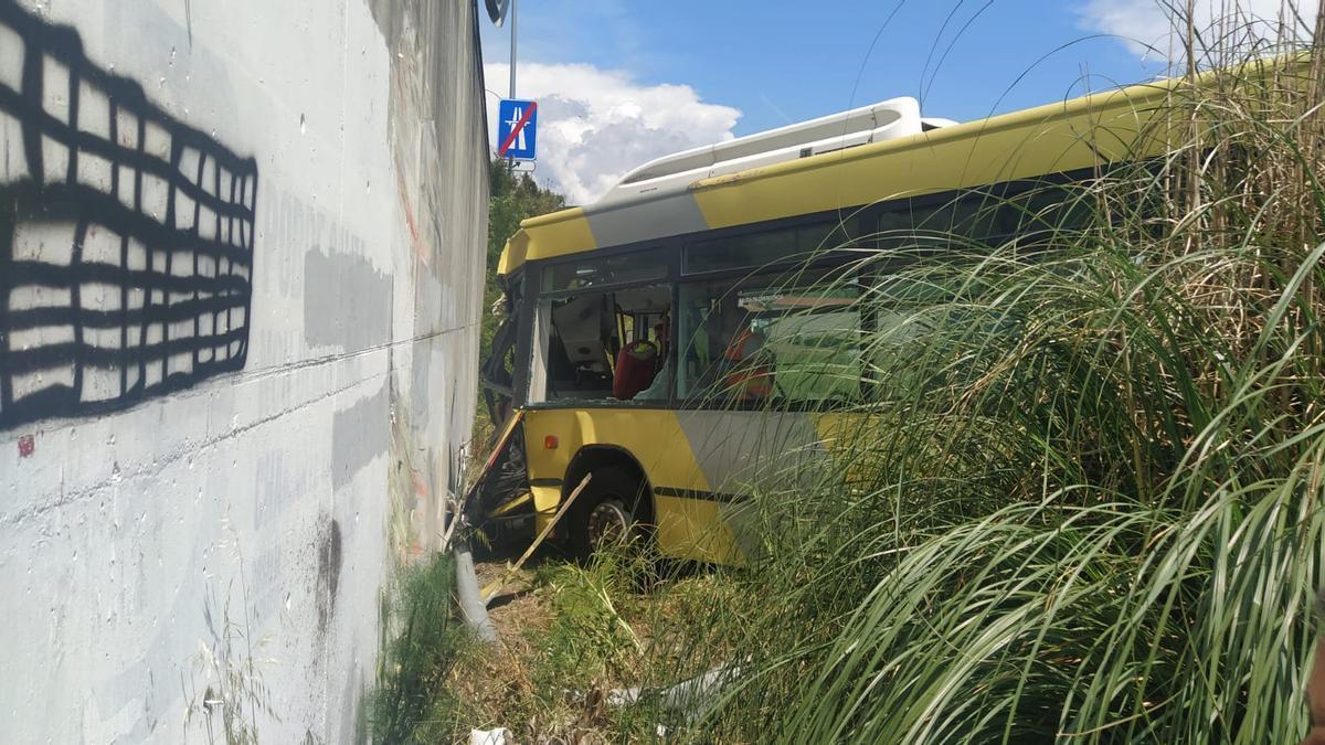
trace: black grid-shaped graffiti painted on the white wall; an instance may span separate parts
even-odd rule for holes
[[[242,370],[256,160],[94,65],[73,28],[0,0],[11,45],[23,62],[0,57],[0,431]]]

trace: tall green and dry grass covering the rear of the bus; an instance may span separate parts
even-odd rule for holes
[[[1312,48],[1178,90],[1169,156],[1056,192],[1085,223],[864,253],[889,269],[860,306],[896,319],[860,341],[871,396],[827,473],[738,508],[762,526],[742,591],[645,677],[741,673],[656,718],[702,741],[1297,741],[1325,537],[1320,68]]]

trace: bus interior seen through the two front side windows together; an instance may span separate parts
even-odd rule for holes
[[[857,400],[859,284],[796,280],[747,276],[543,298],[530,403]]]

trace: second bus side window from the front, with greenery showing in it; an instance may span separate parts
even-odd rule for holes
[[[860,399],[859,286],[731,281],[680,292],[677,396],[723,407]]]

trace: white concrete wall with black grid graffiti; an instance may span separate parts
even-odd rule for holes
[[[343,742],[473,415],[470,0],[0,0],[0,741]]]

